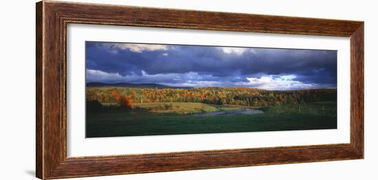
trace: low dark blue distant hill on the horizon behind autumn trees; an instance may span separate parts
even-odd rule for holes
[[[135,87],[135,88],[157,88],[157,89],[192,89],[192,87],[170,87],[166,85],[159,85],[156,83],[104,83],[104,82],[88,82],[87,87]]]

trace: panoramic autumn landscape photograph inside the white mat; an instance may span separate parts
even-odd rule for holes
[[[337,128],[337,51],[86,41],[86,137]]]

